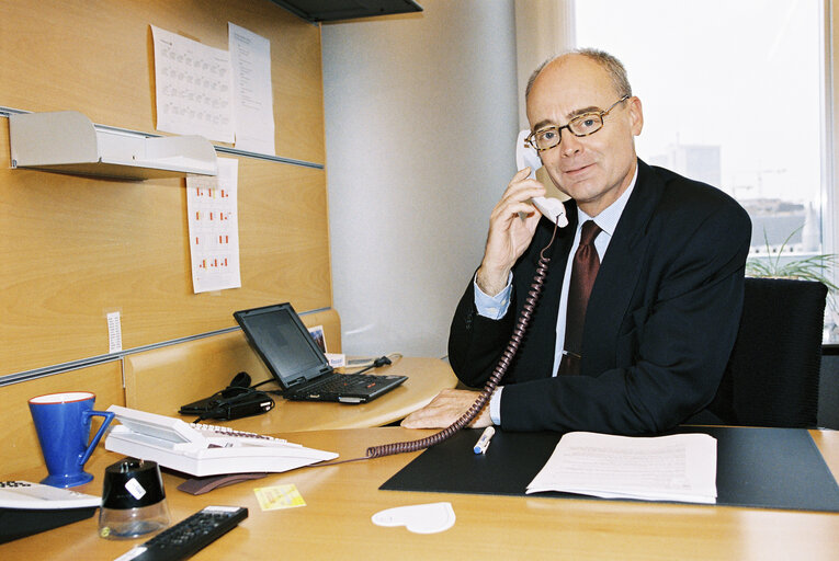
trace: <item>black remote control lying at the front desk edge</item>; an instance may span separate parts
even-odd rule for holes
[[[116,561],[178,561],[186,559],[234,529],[248,517],[239,506],[207,506],[161,531]]]

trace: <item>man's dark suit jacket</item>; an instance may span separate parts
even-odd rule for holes
[[[557,232],[542,296],[501,380],[501,425],[512,431],[659,432],[714,398],[740,319],[751,237],[728,195],[638,160],[638,178],[589,300],[579,376],[552,377],[559,294],[577,224]],[[473,286],[455,311],[449,357],[480,387],[508,344],[553,225],[541,220],[513,268],[504,318],[477,314]]]

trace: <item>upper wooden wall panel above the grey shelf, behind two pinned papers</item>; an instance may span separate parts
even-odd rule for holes
[[[149,25],[227,49],[228,22],[271,42],[276,154],[322,164],[320,28],[270,0],[4,0],[0,106],[154,133]]]

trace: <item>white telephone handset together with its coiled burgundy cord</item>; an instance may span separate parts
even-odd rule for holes
[[[533,170],[533,176],[535,176],[535,170],[542,168],[542,161],[538,159],[538,153],[536,152],[535,148],[529,148],[524,146],[524,139],[528,137],[529,133],[529,130],[522,130],[519,133],[519,139],[517,140],[515,145],[515,163],[520,170],[529,165],[530,169]],[[556,186],[553,184],[553,182],[548,180],[548,183],[551,183],[551,185],[545,185],[546,188],[553,187],[556,190]],[[556,191],[558,193],[558,190]],[[562,201],[554,197],[533,197],[532,202],[535,207],[538,208],[540,213],[542,213],[548,220],[554,224],[554,234],[551,237],[551,241],[547,243],[547,245],[545,245],[540,253],[538,265],[536,265],[536,273],[533,275],[533,282],[531,283],[530,290],[528,291],[526,298],[524,299],[524,306],[519,313],[519,318],[515,320],[515,327],[513,328],[510,341],[507,343],[507,347],[504,348],[503,353],[501,353],[501,358],[499,358],[498,364],[487,380],[486,386],[484,386],[484,389],[480,391],[480,394],[478,394],[478,398],[475,400],[468,411],[461,415],[457,421],[443,428],[439,433],[417,440],[371,446],[367,448],[364,458],[358,459],[381,458],[382,456],[390,456],[393,454],[417,451],[430,446],[434,446],[435,444],[440,444],[441,442],[454,435],[461,428],[468,425],[472,420],[474,420],[478,413],[480,413],[484,407],[486,407],[486,404],[489,402],[489,399],[492,397],[492,393],[498,387],[498,382],[501,381],[501,378],[507,373],[507,369],[515,356],[515,353],[519,351],[519,345],[524,337],[524,333],[526,332],[528,325],[530,324],[530,319],[536,308],[536,301],[542,294],[542,287],[545,283],[545,277],[547,276],[547,264],[551,261],[551,257],[546,256],[546,252],[554,243],[554,238],[556,237],[557,229],[568,226],[568,217],[565,215],[565,205],[563,205]]]

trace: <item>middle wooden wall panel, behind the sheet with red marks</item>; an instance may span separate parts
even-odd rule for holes
[[[242,287],[195,295],[184,180],[11,170],[8,158],[0,134],[0,375],[107,354],[109,311],[131,350],[234,327],[238,309],[331,307],[322,170],[241,158]]]

